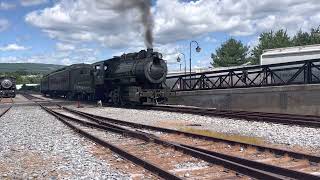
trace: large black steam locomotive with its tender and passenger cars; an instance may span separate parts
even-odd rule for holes
[[[68,99],[96,99],[115,105],[165,102],[167,64],[152,49],[93,64],[74,64],[41,81],[41,92]]]

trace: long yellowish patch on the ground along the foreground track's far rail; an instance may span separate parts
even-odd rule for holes
[[[226,140],[231,140],[231,141],[243,142],[243,143],[250,143],[250,144],[257,144],[257,145],[261,145],[261,144],[265,143],[263,141],[263,139],[257,138],[257,137],[241,136],[241,135],[235,135],[235,134],[225,134],[225,133],[210,131],[207,129],[180,128],[179,130],[194,133],[194,134],[200,134],[200,135],[210,136],[210,137],[214,137],[214,138],[219,138],[219,139],[226,139]]]

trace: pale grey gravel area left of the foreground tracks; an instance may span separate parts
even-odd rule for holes
[[[94,143],[38,106],[0,118],[0,179],[130,179],[90,153]]]

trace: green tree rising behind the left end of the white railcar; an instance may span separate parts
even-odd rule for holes
[[[277,32],[269,31],[261,33],[259,36],[259,44],[252,50],[252,64],[259,64],[260,55],[265,49],[290,47],[292,41],[286,30],[280,29]]]

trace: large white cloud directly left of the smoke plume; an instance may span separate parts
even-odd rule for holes
[[[51,8],[34,11],[25,20],[49,37],[68,43],[99,42],[112,48],[143,44],[137,10],[120,12],[113,1],[62,0]]]

